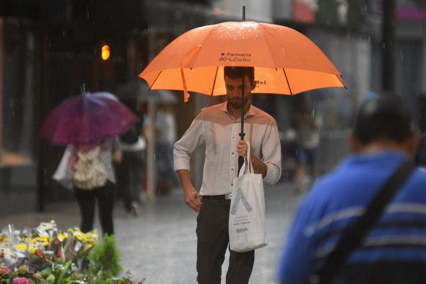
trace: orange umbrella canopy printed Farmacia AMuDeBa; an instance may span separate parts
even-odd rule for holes
[[[165,47],[139,75],[150,89],[225,95],[224,66],[255,67],[252,93],[295,95],[345,87],[327,56],[300,32],[276,24],[198,27]]]

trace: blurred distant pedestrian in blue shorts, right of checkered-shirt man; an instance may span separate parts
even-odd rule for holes
[[[296,130],[297,190],[305,189],[306,171],[309,171],[309,187],[316,179],[316,157],[320,143],[321,121],[314,115],[313,109],[301,99],[295,100],[293,128]]]

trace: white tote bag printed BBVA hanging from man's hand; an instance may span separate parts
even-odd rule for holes
[[[261,174],[253,173],[250,143],[247,160],[234,178],[229,211],[229,245],[233,251],[247,252],[267,245],[265,196]]]

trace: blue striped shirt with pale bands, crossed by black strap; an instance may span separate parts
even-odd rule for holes
[[[352,155],[321,178],[302,201],[290,228],[279,261],[280,282],[303,283],[319,269],[343,229],[364,213],[405,158],[398,151]],[[421,168],[410,175],[344,269],[351,273],[350,283],[373,283],[373,277],[384,280],[393,273],[403,278],[402,271],[416,265],[426,267],[426,170]],[[413,276],[412,271],[407,274]],[[426,283],[426,278],[419,279]]]

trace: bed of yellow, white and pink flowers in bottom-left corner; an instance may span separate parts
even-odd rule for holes
[[[99,269],[82,271],[81,264],[84,259],[90,259],[98,239],[96,229],[88,233],[79,228],[63,232],[53,220],[42,222],[34,229],[16,230],[9,225],[0,233],[0,284],[135,283],[123,278],[105,279],[105,273]],[[112,250],[118,249],[114,236],[105,235],[105,240],[112,242]],[[111,250],[111,245],[109,247]],[[99,249],[97,251],[99,255]],[[90,271],[97,275],[90,275]],[[119,272],[116,270],[114,276]]]

